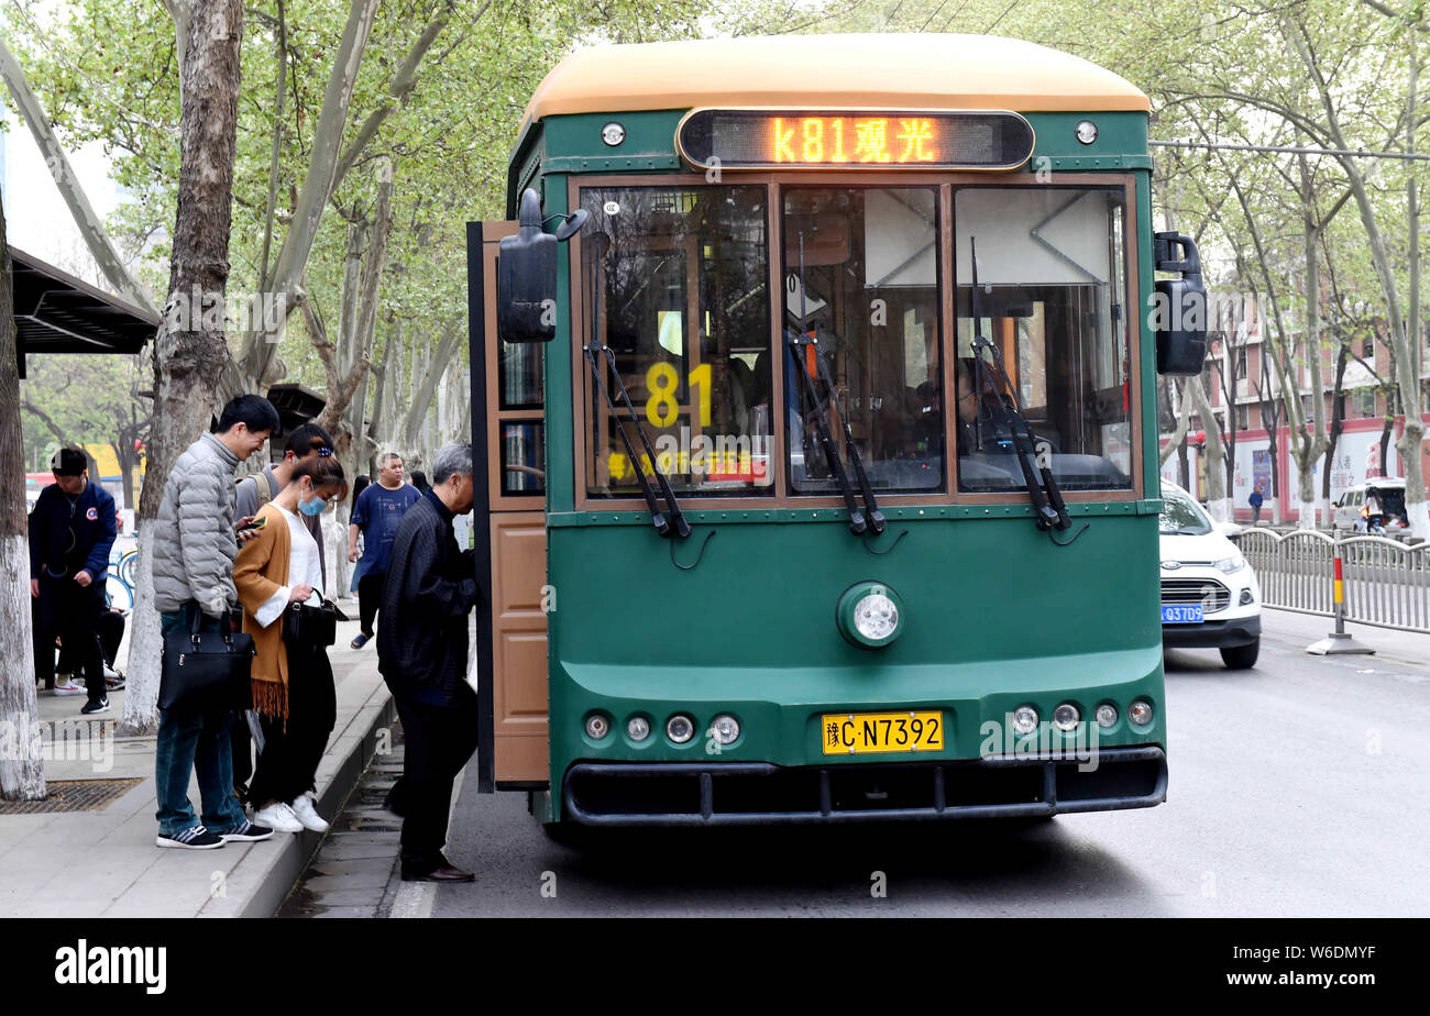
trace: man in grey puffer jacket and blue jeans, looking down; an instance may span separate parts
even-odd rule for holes
[[[237,603],[233,562],[233,470],[279,427],[277,410],[260,396],[239,396],[219,416],[216,433],[203,434],[179,456],[154,520],[154,606],[164,634],[222,630]],[[233,796],[232,709],[164,709],[159,717],[154,776],[162,847],[203,850],[229,840],[267,839]],[[199,772],[203,822],[189,803],[189,775]]]

